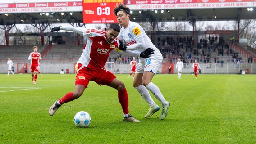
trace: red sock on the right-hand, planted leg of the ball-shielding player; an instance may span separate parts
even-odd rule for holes
[[[118,90],[119,103],[122,106],[123,114],[129,113],[129,99],[126,89]]]

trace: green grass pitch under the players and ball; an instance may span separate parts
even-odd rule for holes
[[[128,74],[117,74],[129,94],[130,113],[140,123],[123,121],[117,90],[91,81],[83,95],[65,103],[53,117],[50,106],[73,91],[74,74],[0,74],[1,144],[256,144],[255,75],[155,75],[169,114],[144,118],[149,108]],[[160,106],[160,102],[155,99]],[[91,125],[77,128],[75,113],[86,111]]]

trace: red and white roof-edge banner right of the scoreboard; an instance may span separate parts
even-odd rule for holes
[[[131,10],[137,9],[205,9],[256,7],[256,0],[126,0]]]

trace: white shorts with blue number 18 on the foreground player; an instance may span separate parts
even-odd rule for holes
[[[156,73],[162,65],[162,61],[162,54],[159,51],[155,51],[155,54],[152,54],[151,57],[140,59],[135,73],[144,73],[144,71]]]

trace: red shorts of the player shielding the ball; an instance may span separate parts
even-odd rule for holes
[[[78,73],[76,75],[75,85],[83,85],[87,88],[89,81],[95,81],[98,85],[107,85],[116,78],[113,73],[103,69],[89,69],[87,67],[82,67],[81,63],[78,63]]]

